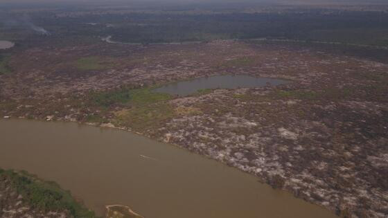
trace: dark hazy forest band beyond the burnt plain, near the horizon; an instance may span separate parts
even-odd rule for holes
[[[74,12],[71,9],[69,12]],[[66,12],[66,10],[64,11]],[[287,39],[388,45],[388,13],[319,8],[265,13],[191,13],[135,11],[85,13],[56,17],[54,12],[32,15],[57,37],[107,36],[121,42],[155,43],[209,41],[213,39]],[[92,25],[93,23],[94,25]]]

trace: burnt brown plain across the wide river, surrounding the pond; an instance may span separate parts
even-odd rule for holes
[[[367,48],[365,48],[367,49]],[[372,57],[368,55],[368,57]],[[0,116],[136,131],[222,161],[343,217],[388,215],[388,64],[292,42],[39,44],[8,57]],[[279,87],[153,87],[220,74]]]

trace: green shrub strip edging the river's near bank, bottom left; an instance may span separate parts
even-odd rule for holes
[[[8,179],[33,208],[44,212],[67,210],[73,217],[96,217],[94,212],[78,203],[70,192],[62,190],[55,182],[42,181],[27,172],[12,170],[0,169],[0,177]]]

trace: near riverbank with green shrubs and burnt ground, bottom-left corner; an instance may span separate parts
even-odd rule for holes
[[[0,217],[96,217],[56,183],[1,168],[0,208]]]

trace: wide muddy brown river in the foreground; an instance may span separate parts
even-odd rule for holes
[[[254,176],[127,131],[73,122],[0,120],[0,167],[56,181],[103,215],[146,218],[335,217]]]

